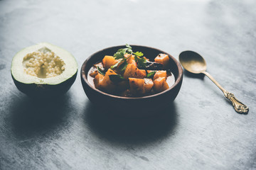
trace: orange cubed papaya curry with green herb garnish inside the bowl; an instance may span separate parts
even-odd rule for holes
[[[169,89],[175,78],[169,68],[169,56],[159,54],[154,62],[132,47],[117,50],[113,56],[105,55],[94,64],[87,78],[92,86],[109,94],[125,97],[149,96]]]

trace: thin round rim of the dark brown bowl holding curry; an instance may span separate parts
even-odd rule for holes
[[[173,60],[176,64],[176,66],[178,67],[178,77],[176,78],[175,80],[175,83],[169,87],[169,89],[166,89],[165,91],[161,91],[157,94],[152,94],[152,95],[149,95],[149,96],[141,96],[141,97],[123,97],[123,96],[116,96],[116,95],[113,95],[113,94],[107,94],[106,92],[104,91],[100,91],[99,89],[96,89],[94,86],[92,86],[92,84],[90,84],[90,82],[87,80],[87,75],[85,75],[85,67],[87,67],[87,62],[93,57],[95,56],[97,53],[99,52],[102,52],[102,51],[105,51],[105,50],[109,50],[111,48],[117,48],[117,47],[124,47],[124,45],[116,45],[116,46],[112,46],[112,47],[106,47],[102,50],[99,50],[97,52],[94,52],[92,55],[90,55],[89,57],[87,57],[87,59],[85,60],[85,62],[82,63],[82,67],[81,67],[81,71],[80,71],[80,77],[82,78],[83,81],[85,81],[85,83],[90,86],[90,89],[94,90],[94,91],[97,91],[97,93],[100,93],[102,95],[105,95],[105,96],[110,96],[110,97],[113,97],[113,98],[120,98],[120,99],[129,99],[129,100],[137,100],[137,99],[143,99],[143,98],[153,98],[155,96],[159,96],[161,94],[165,94],[167,93],[168,91],[171,91],[171,89],[174,89],[175,86],[177,86],[181,81],[182,81],[182,77],[183,77],[183,69],[181,67],[181,64],[178,62],[178,60],[176,60],[172,55],[170,55],[168,52],[164,52],[163,50],[159,50],[155,47],[149,47],[149,46],[144,46],[144,45],[130,45],[130,46],[137,46],[137,47],[146,47],[146,48],[151,48],[153,50],[158,50],[158,51],[161,51],[163,52],[164,54],[166,55],[169,55],[169,57],[171,58],[171,60]],[[91,66],[90,66],[91,67]]]

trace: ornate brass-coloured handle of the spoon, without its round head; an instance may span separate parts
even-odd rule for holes
[[[218,84],[218,82],[215,79],[213,79],[213,77],[208,72],[202,72],[202,73],[206,74],[206,76],[209,77],[209,79],[213,81],[213,83],[216,84],[216,86],[218,86],[218,88],[220,88],[221,91],[223,91],[224,96],[231,101],[236,112],[243,113],[243,114],[247,114],[249,112],[249,108],[244,103],[238,101],[238,99],[235,98],[234,94],[231,94],[230,92],[226,91],[223,88],[223,86],[220,86],[220,84]]]

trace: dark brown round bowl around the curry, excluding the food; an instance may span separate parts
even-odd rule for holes
[[[144,56],[149,58],[150,61],[154,61],[154,57],[159,53],[169,55],[169,53],[158,50],[153,47],[145,47],[141,45],[131,45],[133,51],[143,52]],[[81,81],[82,87],[85,90],[87,97],[98,108],[102,108],[106,113],[115,113],[117,115],[124,116],[147,116],[152,114],[160,114],[161,111],[166,108],[178,95],[178,91],[181,89],[183,79],[183,69],[181,64],[171,55],[170,57],[170,69],[174,74],[175,83],[166,91],[162,91],[159,94],[143,97],[121,97],[107,94],[103,91],[96,89],[87,80],[87,74],[93,64],[102,61],[105,55],[114,55],[119,48],[125,46],[108,47],[87,58],[82,64],[81,68]]]

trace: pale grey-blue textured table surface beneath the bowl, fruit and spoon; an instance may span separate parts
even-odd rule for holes
[[[256,169],[255,8],[253,0],[1,0],[0,169]],[[176,59],[194,50],[250,112],[235,113],[210,79],[186,72],[155,118],[99,114],[80,73],[58,101],[32,101],[16,89],[11,60],[38,42],[71,52],[79,71],[113,45],[156,47]]]

